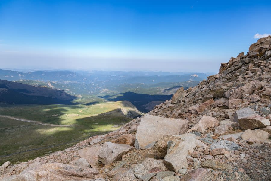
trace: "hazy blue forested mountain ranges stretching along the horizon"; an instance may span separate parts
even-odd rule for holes
[[[178,87],[193,87],[212,73],[143,71],[34,71],[0,69],[0,79],[62,89],[73,95],[105,96],[117,93],[174,94]]]

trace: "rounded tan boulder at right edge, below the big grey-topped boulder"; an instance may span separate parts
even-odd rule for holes
[[[268,140],[270,137],[269,133],[261,129],[256,130],[245,130],[241,135],[241,138],[245,141],[255,142],[255,141],[264,141]]]

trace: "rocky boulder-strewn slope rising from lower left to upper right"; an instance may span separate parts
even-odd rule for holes
[[[64,151],[0,167],[0,180],[270,180],[271,37],[141,118]]]

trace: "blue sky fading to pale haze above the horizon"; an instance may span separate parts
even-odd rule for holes
[[[217,72],[271,1],[0,1],[0,67]]]

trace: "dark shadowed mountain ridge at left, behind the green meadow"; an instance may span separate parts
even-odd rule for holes
[[[75,98],[63,90],[0,80],[0,103],[70,104]]]

